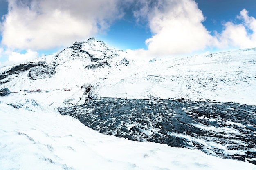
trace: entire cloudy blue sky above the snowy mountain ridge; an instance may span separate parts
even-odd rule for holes
[[[0,0],[0,67],[92,36],[138,57],[256,47],[255,7],[256,0]]]

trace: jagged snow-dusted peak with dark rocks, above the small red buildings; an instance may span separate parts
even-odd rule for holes
[[[0,87],[11,87],[11,91],[23,90],[23,88],[33,88],[31,83],[35,81],[35,89],[53,88],[52,84],[55,84],[54,88],[57,89],[60,88],[60,84],[63,84],[61,85],[63,88],[75,86],[74,82],[84,84],[92,79],[103,79],[102,75],[106,77],[107,74],[129,66],[130,61],[126,59],[124,51],[112,48],[92,37],[84,42],[75,42],[57,54],[40,57],[3,70],[0,72]],[[77,73],[80,77],[74,76]]]

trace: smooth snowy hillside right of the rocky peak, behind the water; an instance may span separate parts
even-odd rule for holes
[[[107,90],[108,89],[108,90]],[[256,49],[153,60],[108,78],[101,97],[256,104]]]

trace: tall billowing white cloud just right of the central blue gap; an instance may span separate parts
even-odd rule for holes
[[[204,27],[202,11],[193,0],[142,1],[135,17],[147,19],[153,36],[146,40],[151,55],[177,55],[203,50],[216,39]]]

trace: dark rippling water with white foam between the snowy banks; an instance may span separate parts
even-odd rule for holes
[[[256,106],[102,98],[59,112],[103,134],[256,164]]]

